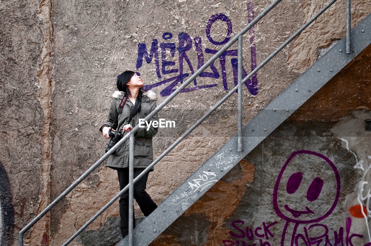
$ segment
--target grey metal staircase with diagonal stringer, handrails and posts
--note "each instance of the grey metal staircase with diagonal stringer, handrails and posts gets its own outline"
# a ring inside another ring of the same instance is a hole
[[[332,77],[335,76],[343,67],[345,67],[355,56],[361,53],[371,43],[371,15],[366,17],[350,32],[350,0],[347,0],[347,35],[332,47],[321,59],[313,64],[306,72],[295,80],[288,88],[279,94],[276,99],[270,102],[265,109],[259,112],[249,123],[242,127],[242,84],[261,69],[272,57],[283,49],[290,41],[298,36],[306,27],[309,26],[318,16],[320,16],[336,0],[331,0],[321,11],[305,23],[301,29],[295,32],[288,40],[285,41],[276,51],[267,57],[259,66],[256,67],[249,75],[242,79],[242,36],[253,25],[262,19],[273,7],[281,0],[275,0],[262,13],[251,21],[242,31],[233,37],[221,50],[219,50],[211,59],[206,62],[200,69],[190,76],[181,86],[167,97],[145,120],[151,118],[155,113],[160,111],[170,100],[181,92],[189,83],[193,81],[203,70],[210,66],[221,54],[224,53],[234,42],[238,40],[238,85],[230,90],[209,112],[199,119],[190,129],[188,129],[179,139],[177,139],[164,153],[162,153],[152,164],[144,170],[147,172],[151,167],[158,163],[167,153],[169,153],[178,143],[181,142],[189,133],[191,133],[203,120],[205,120],[214,110],[217,109],[225,100],[234,92],[239,92],[239,131],[232,137],[221,149],[210,157],[196,172],[188,177],[167,199],[162,202],[158,208],[145,218],[134,230],[129,228],[129,235],[122,239],[118,245],[149,245],[158,237],[168,226],[171,225],[185,210],[199,199],[207,190],[210,189],[218,180],[221,179],[229,170],[231,170],[243,157],[252,151],[262,140],[264,140],[273,130],[285,121],[296,109],[306,102],[313,94],[321,89]],[[96,169],[115,149],[130,138],[130,159],[132,160],[134,133],[138,126],[126,134],[109,152],[102,156],[94,163],[81,177],[72,183],[61,195],[59,195],[49,206],[46,207],[39,215],[35,217],[19,232],[19,245],[23,245],[23,234],[32,227],[41,217],[49,212],[60,200],[63,199],[73,188],[75,188],[86,176]],[[131,162],[131,161],[130,161]],[[129,163],[130,164],[130,163]],[[132,165],[131,165],[132,169]],[[122,193],[129,189],[129,197],[132,199],[132,185],[140,174],[134,180],[132,179],[123,190],[112,198],[95,216],[89,219],[73,236],[71,236],[63,245],[68,245],[79,235],[90,223],[95,220],[106,208],[108,208]],[[132,213],[132,207],[130,208]],[[132,218],[129,215],[129,218]],[[129,223],[132,223],[129,221]]]

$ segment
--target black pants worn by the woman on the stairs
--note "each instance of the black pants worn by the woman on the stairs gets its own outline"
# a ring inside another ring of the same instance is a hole
[[[134,168],[134,179],[137,177],[144,168]],[[119,168],[117,169],[118,181],[120,183],[120,190],[124,189],[129,183],[129,168]],[[134,199],[137,201],[140,209],[142,210],[144,216],[150,215],[156,208],[157,205],[154,203],[145,192],[146,183],[148,179],[148,172],[144,174],[135,184],[134,184]],[[120,196],[120,230],[122,238],[129,234],[129,190]],[[133,213],[133,222],[135,227],[135,219]]]

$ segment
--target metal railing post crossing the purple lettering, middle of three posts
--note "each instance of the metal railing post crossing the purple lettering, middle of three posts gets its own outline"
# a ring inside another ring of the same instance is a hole
[[[242,35],[238,37],[238,103],[237,103],[237,151],[242,152]]]

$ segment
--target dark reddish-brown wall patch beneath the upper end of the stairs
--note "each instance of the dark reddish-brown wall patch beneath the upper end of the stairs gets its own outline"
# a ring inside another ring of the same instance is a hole
[[[351,109],[371,110],[370,60],[371,46],[368,46],[296,110],[289,120],[337,121],[348,116]]]

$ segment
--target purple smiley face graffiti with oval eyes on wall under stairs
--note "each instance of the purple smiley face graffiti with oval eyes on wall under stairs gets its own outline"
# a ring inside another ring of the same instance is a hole
[[[273,208],[288,222],[313,223],[334,211],[339,196],[340,176],[334,163],[322,154],[299,150],[277,177]]]

